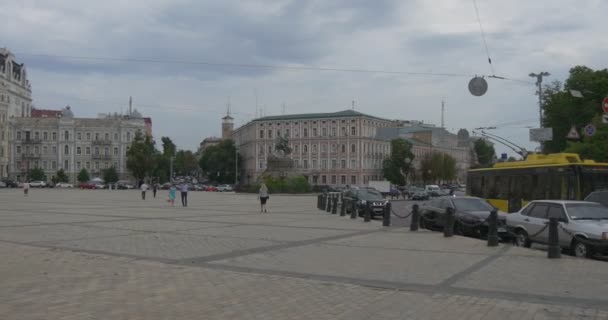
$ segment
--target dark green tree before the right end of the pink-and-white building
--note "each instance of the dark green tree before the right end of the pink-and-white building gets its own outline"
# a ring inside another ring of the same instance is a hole
[[[405,139],[393,139],[391,155],[382,162],[384,178],[392,184],[405,185],[413,160],[412,144]]]

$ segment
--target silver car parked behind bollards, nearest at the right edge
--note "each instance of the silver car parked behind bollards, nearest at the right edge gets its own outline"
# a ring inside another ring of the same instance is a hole
[[[608,208],[587,201],[537,200],[507,216],[515,243],[529,248],[547,244],[549,217],[559,220],[559,244],[576,257],[608,254]]]

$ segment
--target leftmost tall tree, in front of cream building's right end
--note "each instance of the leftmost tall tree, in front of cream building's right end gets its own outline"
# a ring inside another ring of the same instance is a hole
[[[144,136],[141,131],[138,131],[127,151],[127,169],[131,171],[135,179],[143,180],[156,168],[156,154],[152,138]]]

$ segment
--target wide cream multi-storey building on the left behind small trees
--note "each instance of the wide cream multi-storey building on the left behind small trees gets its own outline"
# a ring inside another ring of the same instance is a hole
[[[76,183],[82,169],[93,178],[114,166],[120,179],[132,180],[126,166],[127,150],[136,132],[151,132],[149,118],[135,112],[75,118],[69,106],[58,116],[45,114],[40,118],[10,119],[10,178],[24,181],[30,170],[41,168],[50,181],[63,169],[70,182]]]

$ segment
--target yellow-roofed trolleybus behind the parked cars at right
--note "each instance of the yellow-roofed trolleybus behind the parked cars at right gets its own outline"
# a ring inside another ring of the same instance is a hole
[[[518,211],[531,200],[582,200],[600,189],[608,189],[608,163],[581,160],[573,153],[532,154],[467,175],[467,194],[505,212]]]

